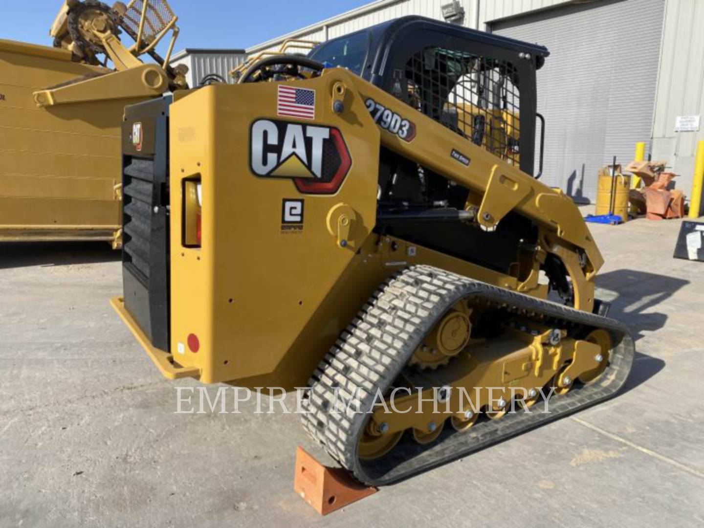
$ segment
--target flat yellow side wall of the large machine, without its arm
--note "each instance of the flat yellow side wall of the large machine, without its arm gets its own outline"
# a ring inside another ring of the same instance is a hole
[[[120,239],[122,98],[45,110],[34,92],[105,68],[0,40],[0,241]]]

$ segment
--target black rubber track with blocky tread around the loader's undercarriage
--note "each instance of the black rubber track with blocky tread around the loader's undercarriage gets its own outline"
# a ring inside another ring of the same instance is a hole
[[[453,304],[467,297],[525,308],[565,325],[574,322],[606,329],[615,343],[610,365],[596,382],[553,396],[550,413],[541,413],[544,402],[536,403],[531,413],[484,420],[465,432],[445,427],[441,436],[426,446],[403,438],[384,458],[360,461],[358,439],[369,416],[354,409],[331,413],[335,387],[345,400],[358,394],[361,408],[368,410],[377,387],[386,391],[423,337]],[[633,356],[633,340],[620,322],[417,265],[398,272],[379,287],[318,365],[309,383],[309,412],[303,414],[303,427],[360,482],[391,484],[614,396],[626,381]]]

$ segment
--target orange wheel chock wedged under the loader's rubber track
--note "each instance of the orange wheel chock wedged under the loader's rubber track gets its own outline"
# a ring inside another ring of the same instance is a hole
[[[325,467],[298,446],[294,491],[320,515],[327,515],[379,490],[360,484],[339,467]]]

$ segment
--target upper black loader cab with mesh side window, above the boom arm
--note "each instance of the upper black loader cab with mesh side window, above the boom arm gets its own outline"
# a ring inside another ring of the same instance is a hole
[[[418,16],[332,39],[310,52],[517,165],[535,170],[536,70],[543,46]]]

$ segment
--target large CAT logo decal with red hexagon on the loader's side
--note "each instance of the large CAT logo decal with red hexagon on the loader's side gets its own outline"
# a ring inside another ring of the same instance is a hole
[[[250,130],[249,167],[265,178],[290,178],[303,194],[334,194],[352,159],[339,129],[259,119]]]

